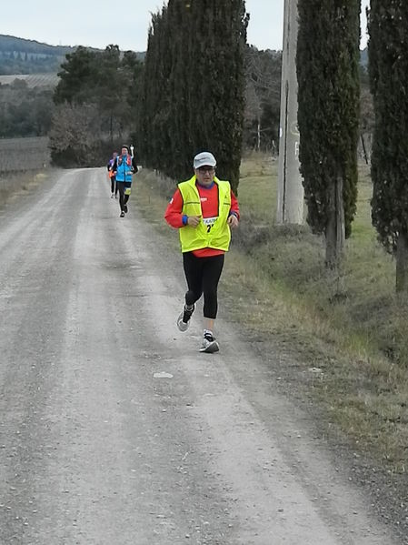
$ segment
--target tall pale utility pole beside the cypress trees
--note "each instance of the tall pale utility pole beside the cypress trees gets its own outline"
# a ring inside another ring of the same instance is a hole
[[[299,171],[297,126],[297,0],[284,0],[284,47],[282,51],[281,125],[277,223],[304,223],[304,187]]]

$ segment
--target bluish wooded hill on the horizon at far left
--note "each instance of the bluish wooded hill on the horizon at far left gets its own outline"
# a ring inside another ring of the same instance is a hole
[[[48,45],[0,35],[0,75],[56,74],[65,61],[65,55],[73,53],[75,49],[70,45]],[[100,51],[93,47],[90,49]],[[144,59],[144,53],[136,55]]]

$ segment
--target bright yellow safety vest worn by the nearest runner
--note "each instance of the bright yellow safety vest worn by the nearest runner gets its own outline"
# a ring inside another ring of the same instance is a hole
[[[218,187],[218,216],[203,217],[200,196],[195,186],[195,175],[186,182],[178,184],[183,197],[183,216],[200,216],[201,221],[197,227],[186,225],[180,227],[180,243],[182,252],[192,252],[204,247],[212,247],[228,251],[231,240],[231,230],[227,219],[231,209],[231,186],[224,180],[214,177]]]

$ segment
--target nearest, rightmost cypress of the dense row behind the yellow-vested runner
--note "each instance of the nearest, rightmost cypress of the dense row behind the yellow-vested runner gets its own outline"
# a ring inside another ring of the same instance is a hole
[[[244,50],[248,16],[242,0],[194,0],[190,133],[194,153],[209,149],[234,191],[244,125]]]

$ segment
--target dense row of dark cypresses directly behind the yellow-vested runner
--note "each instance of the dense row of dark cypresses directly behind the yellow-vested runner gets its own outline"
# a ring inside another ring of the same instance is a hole
[[[153,15],[137,135],[147,167],[183,179],[208,150],[236,191],[247,24],[244,0],[169,0]]]

